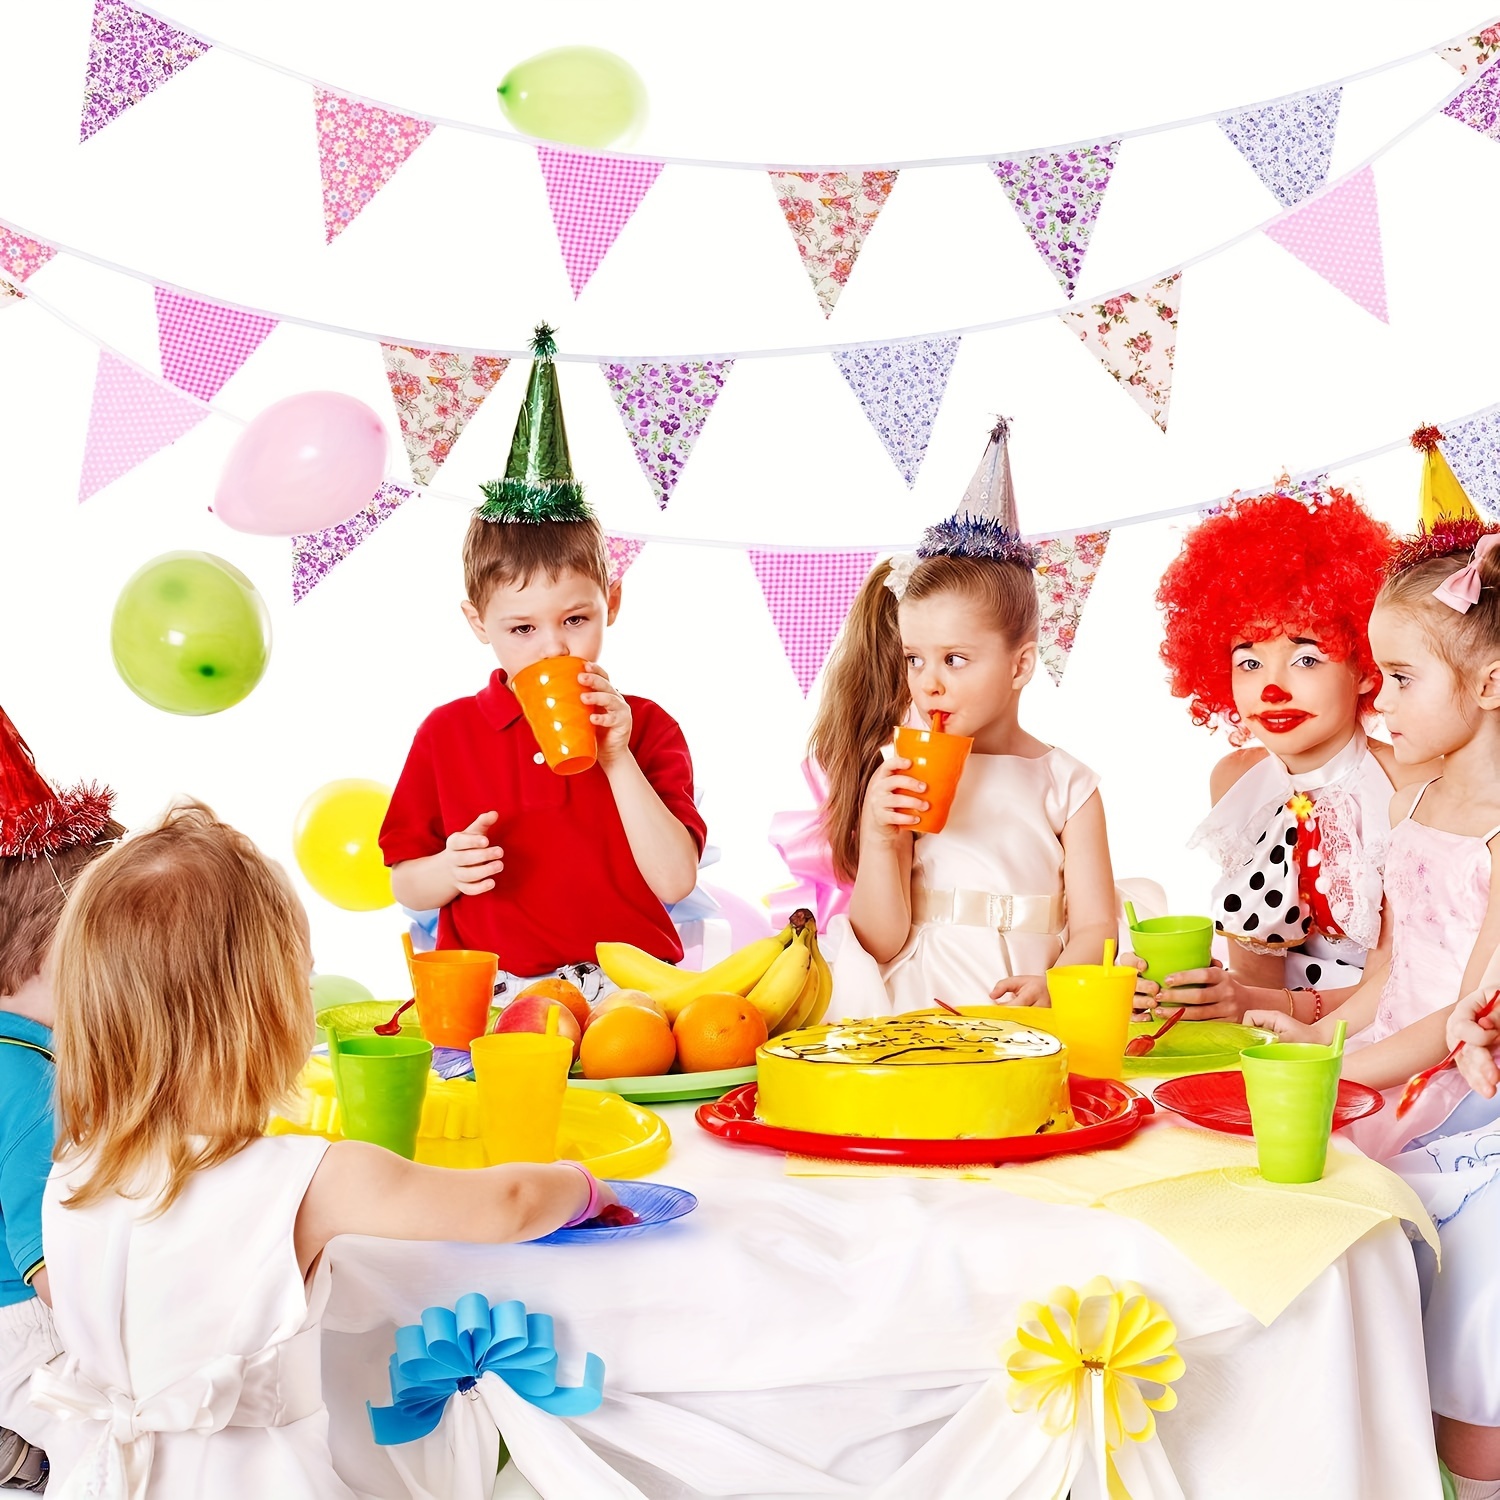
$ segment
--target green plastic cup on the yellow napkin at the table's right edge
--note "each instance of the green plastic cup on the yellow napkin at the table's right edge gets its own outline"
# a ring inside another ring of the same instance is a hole
[[[1260,1174],[1266,1182],[1317,1182],[1328,1162],[1342,1050],[1268,1041],[1239,1058]]]

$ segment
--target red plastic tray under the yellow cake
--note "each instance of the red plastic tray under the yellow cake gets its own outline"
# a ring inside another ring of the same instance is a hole
[[[832,1161],[884,1161],[908,1167],[969,1167],[980,1162],[1035,1161],[1072,1150],[1119,1144],[1152,1113],[1150,1100],[1110,1078],[1068,1078],[1076,1130],[1047,1136],[1002,1136],[998,1140],[882,1140],[874,1136],[818,1136],[784,1130],[754,1118],[756,1084],[730,1089],[714,1104],[698,1107],[698,1124],[735,1146],[771,1146],[798,1156]]]

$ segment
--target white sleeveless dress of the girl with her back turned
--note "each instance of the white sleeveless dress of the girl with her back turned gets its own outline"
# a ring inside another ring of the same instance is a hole
[[[292,1248],[327,1146],[252,1142],[156,1218],[148,1197],[63,1208],[84,1168],[52,1168],[42,1234],[68,1362],[32,1400],[80,1425],[82,1456],[51,1500],[352,1500],[322,1404],[330,1278],[309,1293]]]

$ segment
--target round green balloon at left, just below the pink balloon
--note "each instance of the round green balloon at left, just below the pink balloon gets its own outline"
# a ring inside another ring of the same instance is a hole
[[[218,714],[266,674],[266,600],[208,552],[164,552],[120,590],[110,650],[124,686],[168,714]]]

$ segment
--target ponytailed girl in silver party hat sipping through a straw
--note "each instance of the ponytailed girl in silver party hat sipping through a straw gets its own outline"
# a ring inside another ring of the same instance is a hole
[[[866,579],[830,660],[810,753],[834,867],[854,880],[831,924],[832,1016],[1046,1004],[1044,972],[1098,963],[1118,932],[1098,777],[1020,724],[1038,602],[1005,438],[1002,422],[968,508]],[[974,752],[946,826],[914,836],[926,786],[891,735],[934,712]]]

